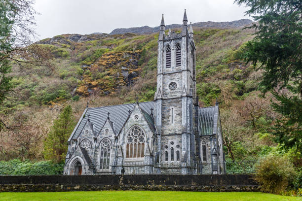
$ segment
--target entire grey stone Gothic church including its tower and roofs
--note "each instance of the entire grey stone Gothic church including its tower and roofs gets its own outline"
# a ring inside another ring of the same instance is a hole
[[[87,107],[68,140],[65,174],[225,172],[219,104],[198,106],[195,44],[185,10],[181,33],[158,36],[154,100]]]

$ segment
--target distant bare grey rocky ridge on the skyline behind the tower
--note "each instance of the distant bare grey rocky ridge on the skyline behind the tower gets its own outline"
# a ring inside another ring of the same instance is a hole
[[[249,19],[241,19],[241,20],[235,20],[231,22],[197,22],[193,23],[193,29],[194,27],[199,27],[199,28],[220,28],[220,29],[229,29],[229,28],[243,28],[245,26],[248,26],[252,24],[252,20]],[[177,29],[180,28],[182,25],[179,24],[172,24],[172,25],[167,25],[167,29]],[[159,32],[159,26],[158,27],[133,27],[133,28],[127,28],[127,29],[115,29],[111,33],[113,34],[124,34],[124,33],[136,33],[136,34],[147,34],[147,33],[156,33]]]

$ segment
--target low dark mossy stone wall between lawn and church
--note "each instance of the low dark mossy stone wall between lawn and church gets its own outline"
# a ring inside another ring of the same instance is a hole
[[[259,191],[252,174],[0,176],[0,192],[100,190]]]

